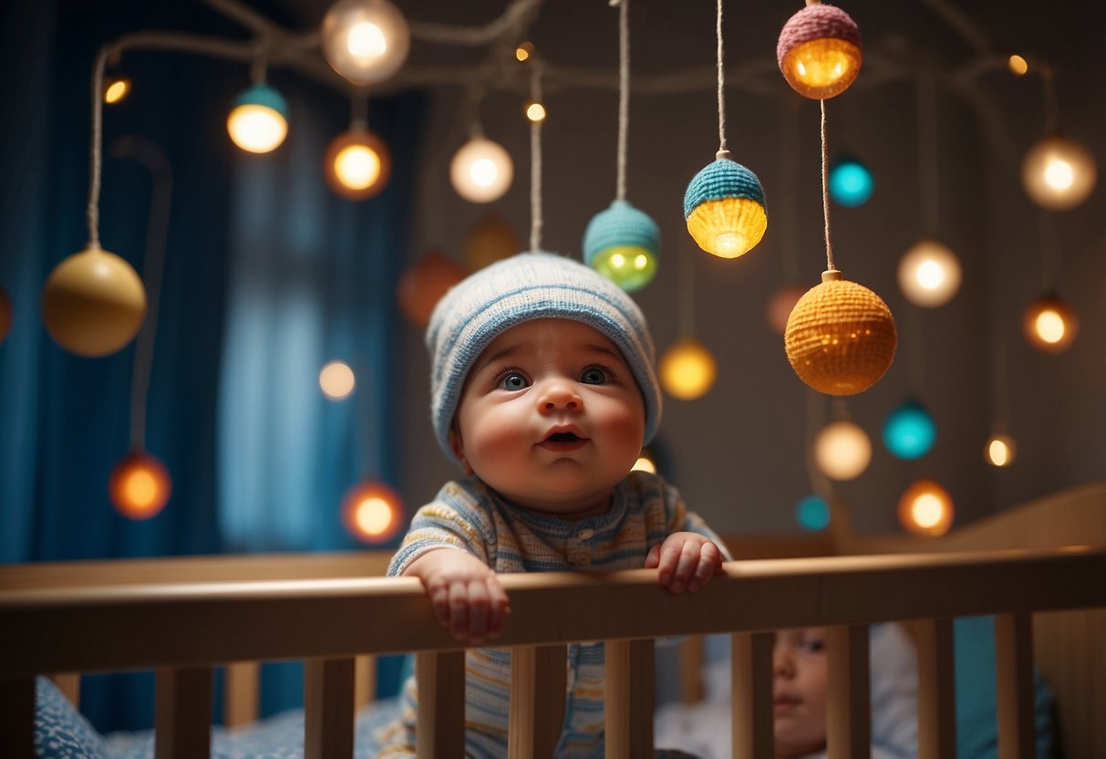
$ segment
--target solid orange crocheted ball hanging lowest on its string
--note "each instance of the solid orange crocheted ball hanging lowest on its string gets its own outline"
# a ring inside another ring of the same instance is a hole
[[[795,303],[783,342],[800,380],[826,395],[855,395],[890,366],[895,319],[879,295],[832,269]]]

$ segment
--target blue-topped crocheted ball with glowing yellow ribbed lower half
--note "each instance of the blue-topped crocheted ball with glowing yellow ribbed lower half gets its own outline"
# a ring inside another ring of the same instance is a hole
[[[691,237],[708,253],[743,256],[768,229],[764,189],[755,174],[720,157],[692,177],[684,195],[684,218]]]

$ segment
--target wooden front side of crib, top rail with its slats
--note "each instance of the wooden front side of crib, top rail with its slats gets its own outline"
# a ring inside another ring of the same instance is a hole
[[[207,746],[212,666],[306,659],[307,756],[348,757],[354,656],[401,652],[419,654],[420,751],[462,756],[463,651],[432,621],[417,580],[20,583],[7,569],[0,571],[3,756],[31,756],[39,674],[158,669],[167,705],[165,714],[158,708],[158,756],[196,757]],[[834,627],[830,756],[866,755],[866,708],[853,708],[867,704],[866,625],[901,620],[921,621],[921,756],[948,756],[950,620],[977,614],[997,615],[1003,756],[1031,756],[1031,616],[1106,606],[1104,580],[1106,551],[1087,547],[739,561],[695,595],[660,590],[651,570],[504,575],[512,613],[497,645],[520,652],[512,756],[549,756],[559,720],[543,683],[559,669],[563,677],[564,646],[576,641],[608,642],[607,756],[644,756],[651,744],[653,686],[641,674],[651,673],[649,638],[711,633],[733,634],[733,724],[741,727],[734,756],[770,756],[765,631],[813,625]]]

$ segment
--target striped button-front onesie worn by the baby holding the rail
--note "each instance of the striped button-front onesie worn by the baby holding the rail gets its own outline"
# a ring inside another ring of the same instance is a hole
[[[426,551],[449,547],[468,551],[497,573],[613,571],[640,569],[649,549],[674,532],[718,536],[687,510],[675,488],[656,475],[634,471],[615,486],[611,509],[578,521],[535,516],[515,508],[476,476],[452,480],[411,520],[388,575],[403,574]],[[567,692],[557,757],[603,756],[603,644],[572,644]],[[511,654],[505,648],[470,649],[466,655],[466,756],[507,756]],[[400,721],[378,736],[382,759],[415,753],[414,678],[403,693]]]

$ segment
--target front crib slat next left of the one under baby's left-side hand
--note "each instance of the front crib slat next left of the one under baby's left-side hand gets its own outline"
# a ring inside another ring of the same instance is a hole
[[[353,756],[354,670],[352,656],[304,662],[304,759],[347,759]]]

